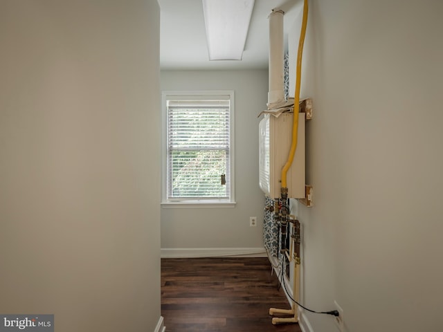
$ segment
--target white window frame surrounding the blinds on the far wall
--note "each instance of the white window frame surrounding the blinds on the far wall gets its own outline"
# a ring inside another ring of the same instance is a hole
[[[230,192],[228,199],[168,199],[168,100],[205,100],[227,98],[229,105],[230,135]],[[165,208],[232,208],[235,206],[235,94],[232,90],[217,91],[162,91],[162,167],[161,167],[161,205]]]

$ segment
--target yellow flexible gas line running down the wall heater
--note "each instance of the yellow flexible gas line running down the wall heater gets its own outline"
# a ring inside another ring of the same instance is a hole
[[[291,143],[291,149],[289,149],[288,160],[282,168],[282,188],[287,188],[287,172],[289,167],[291,167],[292,165],[293,156],[296,154],[296,148],[297,148],[298,104],[300,102],[300,80],[301,80],[301,71],[302,71],[303,44],[305,43],[306,26],[307,26],[307,11],[308,11],[308,5],[307,5],[307,0],[305,0],[303,6],[302,30],[300,31],[300,40],[298,41],[296,91],[294,93],[294,101],[293,101],[292,143]]]

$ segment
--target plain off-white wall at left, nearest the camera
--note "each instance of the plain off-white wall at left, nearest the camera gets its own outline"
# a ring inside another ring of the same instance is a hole
[[[0,2],[0,313],[160,319],[156,1]]]

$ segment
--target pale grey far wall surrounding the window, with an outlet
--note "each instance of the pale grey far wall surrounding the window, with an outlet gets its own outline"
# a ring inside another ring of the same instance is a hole
[[[258,113],[266,109],[268,78],[257,71],[162,71],[163,91],[235,91],[235,208],[161,209],[161,248],[260,248],[264,195],[258,187]],[[249,216],[258,225],[249,227]],[[198,250],[197,250],[198,251]],[[216,250],[217,251],[217,250]],[[237,250],[234,250],[237,251]],[[246,250],[247,251],[247,250]],[[206,251],[208,252],[208,251]]]

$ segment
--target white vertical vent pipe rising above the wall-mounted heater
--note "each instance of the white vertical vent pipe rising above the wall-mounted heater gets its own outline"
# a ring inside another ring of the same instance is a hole
[[[284,102],[284,43],[282,10],[269,15],[269,92],[268,109]]]

